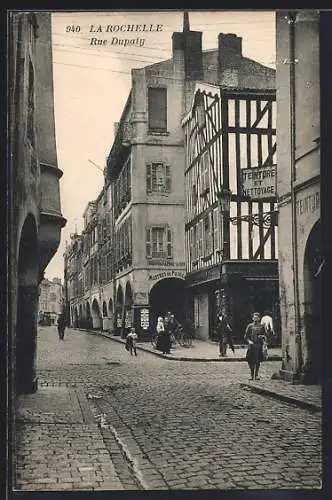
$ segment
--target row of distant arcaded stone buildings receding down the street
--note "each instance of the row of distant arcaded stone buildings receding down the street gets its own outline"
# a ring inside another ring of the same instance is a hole
[[[69,321],[76,328],[113,330],[111,188],[104,187],[83,213],[83,231],[64,253]]]

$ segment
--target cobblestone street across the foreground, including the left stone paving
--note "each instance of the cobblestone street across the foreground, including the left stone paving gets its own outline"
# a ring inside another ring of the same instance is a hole
[[[261,381],[279,367],[263,363]],[[61,342],[48,327],[39,331],[38,374],[41,392],[67,387],[74,401],[76,391],[83,414],[86,405],[95,421],[83,418],[74,426],[81,449],[68,450],[63,443],[73,438],[70,414],[57,436],[52,422],[31,423],[21,414],[19,489],[38,489],[31,475],[41,469],[46,481],[39,489],[321,487],[320,413],[242,388],[246,363],[179,362],[143,351],[131,357],[122,344],[85,332],[69,329]],[[59,418],[60,410],[54,410]],[[57,439],[62,448],[53,462],[64,458],[73,465],[60,480],[41,449],[47,439],[49,454]],[[86,450],[99,466],[93,481]]]

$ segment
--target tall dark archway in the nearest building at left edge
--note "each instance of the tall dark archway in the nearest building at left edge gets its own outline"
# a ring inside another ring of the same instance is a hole
[[[23,224],[18,250],[17,322],[15,332],[15,390],[37,390],[36,344],[39,297],[38,232],[35,217]]]

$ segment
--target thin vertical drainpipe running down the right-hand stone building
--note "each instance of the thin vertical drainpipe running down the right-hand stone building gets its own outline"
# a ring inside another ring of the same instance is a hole
[[[297,13],[292,11],[288,13],[289,18],[289,98],[290,98],[290,164],[291,164],[291,205],[292,205],[292,264],[293,264],[293,291],[294,291],[294,312],[295,312],[295,342],[296,358],[299,366],[296,373],[299,374],[303,365],[302,339],[301,339],[301,321],[300,321],[300,299],[298,282],[298,259],[297,259],[297,215],[296,215],[296,197],[294,185],[296,181],[296,123],[295,123],[295,22]]]

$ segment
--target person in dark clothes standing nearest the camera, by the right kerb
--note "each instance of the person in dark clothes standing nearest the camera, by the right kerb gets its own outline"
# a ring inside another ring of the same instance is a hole
[[[260,322],[260,314],[255,312],[252,315],[252,322],[248,324],[244,335],[248,350],[246,360],[250,369],[250,380],[259,380],[258,372],[263,361],[263,341],[265,338],[265,328]]]

